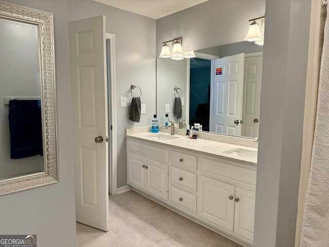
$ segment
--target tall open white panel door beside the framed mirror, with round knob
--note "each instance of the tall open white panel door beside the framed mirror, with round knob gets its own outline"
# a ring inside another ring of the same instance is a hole
[[[70,22],[69,46],[76,220],[107,231],[105,16]]]

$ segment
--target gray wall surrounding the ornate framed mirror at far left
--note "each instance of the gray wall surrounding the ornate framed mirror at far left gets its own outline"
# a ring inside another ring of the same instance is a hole
[[[66,0],[7,0],[54,13],[59,179],[0,197],[0,233],[36,234],[38,246],[75,246],[74,169]]]

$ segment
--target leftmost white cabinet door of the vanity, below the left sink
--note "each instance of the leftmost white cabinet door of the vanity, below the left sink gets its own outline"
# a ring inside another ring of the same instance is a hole
[[[145,158],[131,153],[128,154],[127,177],[129,185],[146,189],[145,167]]]

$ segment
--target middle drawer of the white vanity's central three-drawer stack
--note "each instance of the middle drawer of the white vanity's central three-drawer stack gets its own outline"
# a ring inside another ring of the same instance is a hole
[[[176,167],[170,168],[170,181],[176,186],[196,192],[196,173],[185,171]]]

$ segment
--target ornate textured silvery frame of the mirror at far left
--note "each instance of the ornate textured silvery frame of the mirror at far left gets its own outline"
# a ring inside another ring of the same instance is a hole
[[[38,27],[44,172],[0,181],[0,196],[58,183],[53,14],[0,1],[0,19]]]

